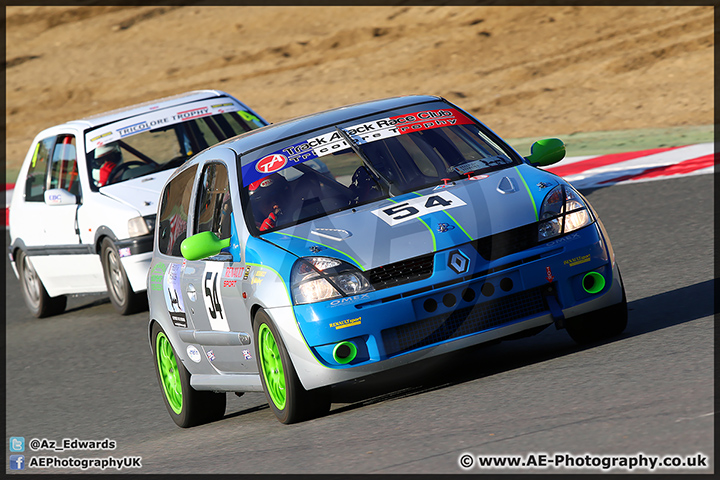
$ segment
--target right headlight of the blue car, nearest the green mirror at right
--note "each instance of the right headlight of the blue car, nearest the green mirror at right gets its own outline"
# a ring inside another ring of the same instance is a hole
[[[538,241],[570,233],[593,222],[587,205],[572,188],[558,185],[540,207]]]

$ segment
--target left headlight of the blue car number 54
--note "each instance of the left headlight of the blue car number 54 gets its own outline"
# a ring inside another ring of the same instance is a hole
[[[295,305],[375,290],[360,270],[328,257],[304,257],[293,266],[290,288]]]

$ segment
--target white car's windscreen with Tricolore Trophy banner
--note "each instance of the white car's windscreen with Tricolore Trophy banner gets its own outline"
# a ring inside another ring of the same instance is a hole
[[[229,98],[135,116],[85,135],[93,189],[176,168],[218,142],[265,125]]]

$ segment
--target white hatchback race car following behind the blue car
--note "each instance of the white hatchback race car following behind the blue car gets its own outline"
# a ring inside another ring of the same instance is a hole
[[[142,309],[157,202],[176,167],[267,125],[225,92],[202,90],[71,121],[32,143],[10,204],[9,257],[36,317],[68,294],[107,291]]]

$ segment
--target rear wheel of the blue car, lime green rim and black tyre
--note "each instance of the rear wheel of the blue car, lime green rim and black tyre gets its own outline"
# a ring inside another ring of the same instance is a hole
[[[175,355],[160,324],[154,322],[151,332],[155,374],[173,422],[188,428],[220,420],[225,415],[226,394],[192,388],[190,373]]]

